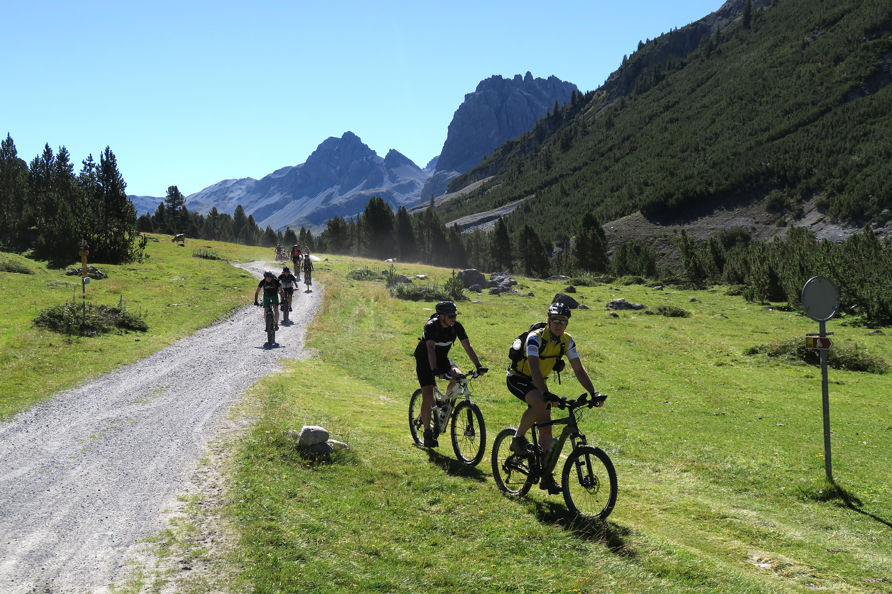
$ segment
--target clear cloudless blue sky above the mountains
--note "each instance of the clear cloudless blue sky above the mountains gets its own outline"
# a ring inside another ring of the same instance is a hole
[[[594,89],[640,39],[721,4],[2,0],[0,134],[26,160],[110,145],[140,195],[260,178],[346,130],[424,167],[483,78]]]

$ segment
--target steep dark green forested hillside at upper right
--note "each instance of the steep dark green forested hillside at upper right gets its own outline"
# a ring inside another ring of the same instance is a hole
[[[771,194],[793,222],[815,193],[829,216],[879,217],[892,203],[892,4],[747,1],[693,52],[653,60],[701,25],[624,60],[619,74],[640,70],[628,95],[574,94],[459,176],[450,191],[496,174],[444,202],[442,219],[535,195],[506,217],[509,231],[560,241],[584,213],[659,216],[744,192]]]

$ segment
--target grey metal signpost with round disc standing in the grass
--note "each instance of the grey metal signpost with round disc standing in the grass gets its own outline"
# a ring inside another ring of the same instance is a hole
[[[821,352],[821,392],[824,413],[824,473],[833,482],[833,466],[830,463],[830,394],[827,386],[827,353],[833,346],[828,337],[827,321],[839,310],[839,291],[826,276],[814,276],[802,288],[802,306],[812,320],[817,321],[818,333],[805,337],[805,348]],[[833,334],[830,332],[829,334]]]

